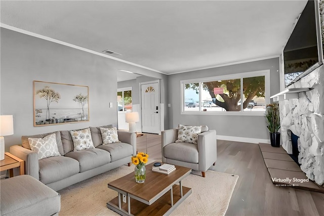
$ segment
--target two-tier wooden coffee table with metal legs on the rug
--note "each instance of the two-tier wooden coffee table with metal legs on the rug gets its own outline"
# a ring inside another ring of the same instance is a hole
[[[145,166],[143,184],[136,183],[134,172],[108,183],[108,188],[117,191],[118,196],[107,202],[107,207],[121,215],[169,215],[191,194],[191,188],[181,184],[190,168],[176,166],[174,172],[165,175],[153,172],[152,165]]]

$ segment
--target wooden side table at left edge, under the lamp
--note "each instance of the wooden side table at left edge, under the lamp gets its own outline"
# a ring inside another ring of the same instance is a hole
[[[20,167],[20,175],[25,174],[24,161],[15,155],[5,152],[5,159],[0,161],[1,169],[0,171],[5,171],[9,169],[9,177],[14,176],[13,168]]]

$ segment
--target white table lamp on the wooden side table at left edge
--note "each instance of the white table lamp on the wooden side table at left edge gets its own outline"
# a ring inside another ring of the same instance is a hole
[[[0,160],[5,159],[5,138],[3,136],[14,134],[14,121],[12,115],[0,115]]]

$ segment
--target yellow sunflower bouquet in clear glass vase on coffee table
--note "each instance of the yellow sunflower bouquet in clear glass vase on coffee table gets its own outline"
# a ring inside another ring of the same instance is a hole
[[[132,156],[132,163],[135,165],[135,180],[137,183],[144,183],[146,177],[145,164],[148,161],[148,154],[139,152]]]

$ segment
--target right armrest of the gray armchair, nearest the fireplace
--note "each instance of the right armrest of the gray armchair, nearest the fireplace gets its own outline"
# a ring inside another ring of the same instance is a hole
[[[216,131],[210,130],[198,135],[198,167],[206,171],[217,159]]]

